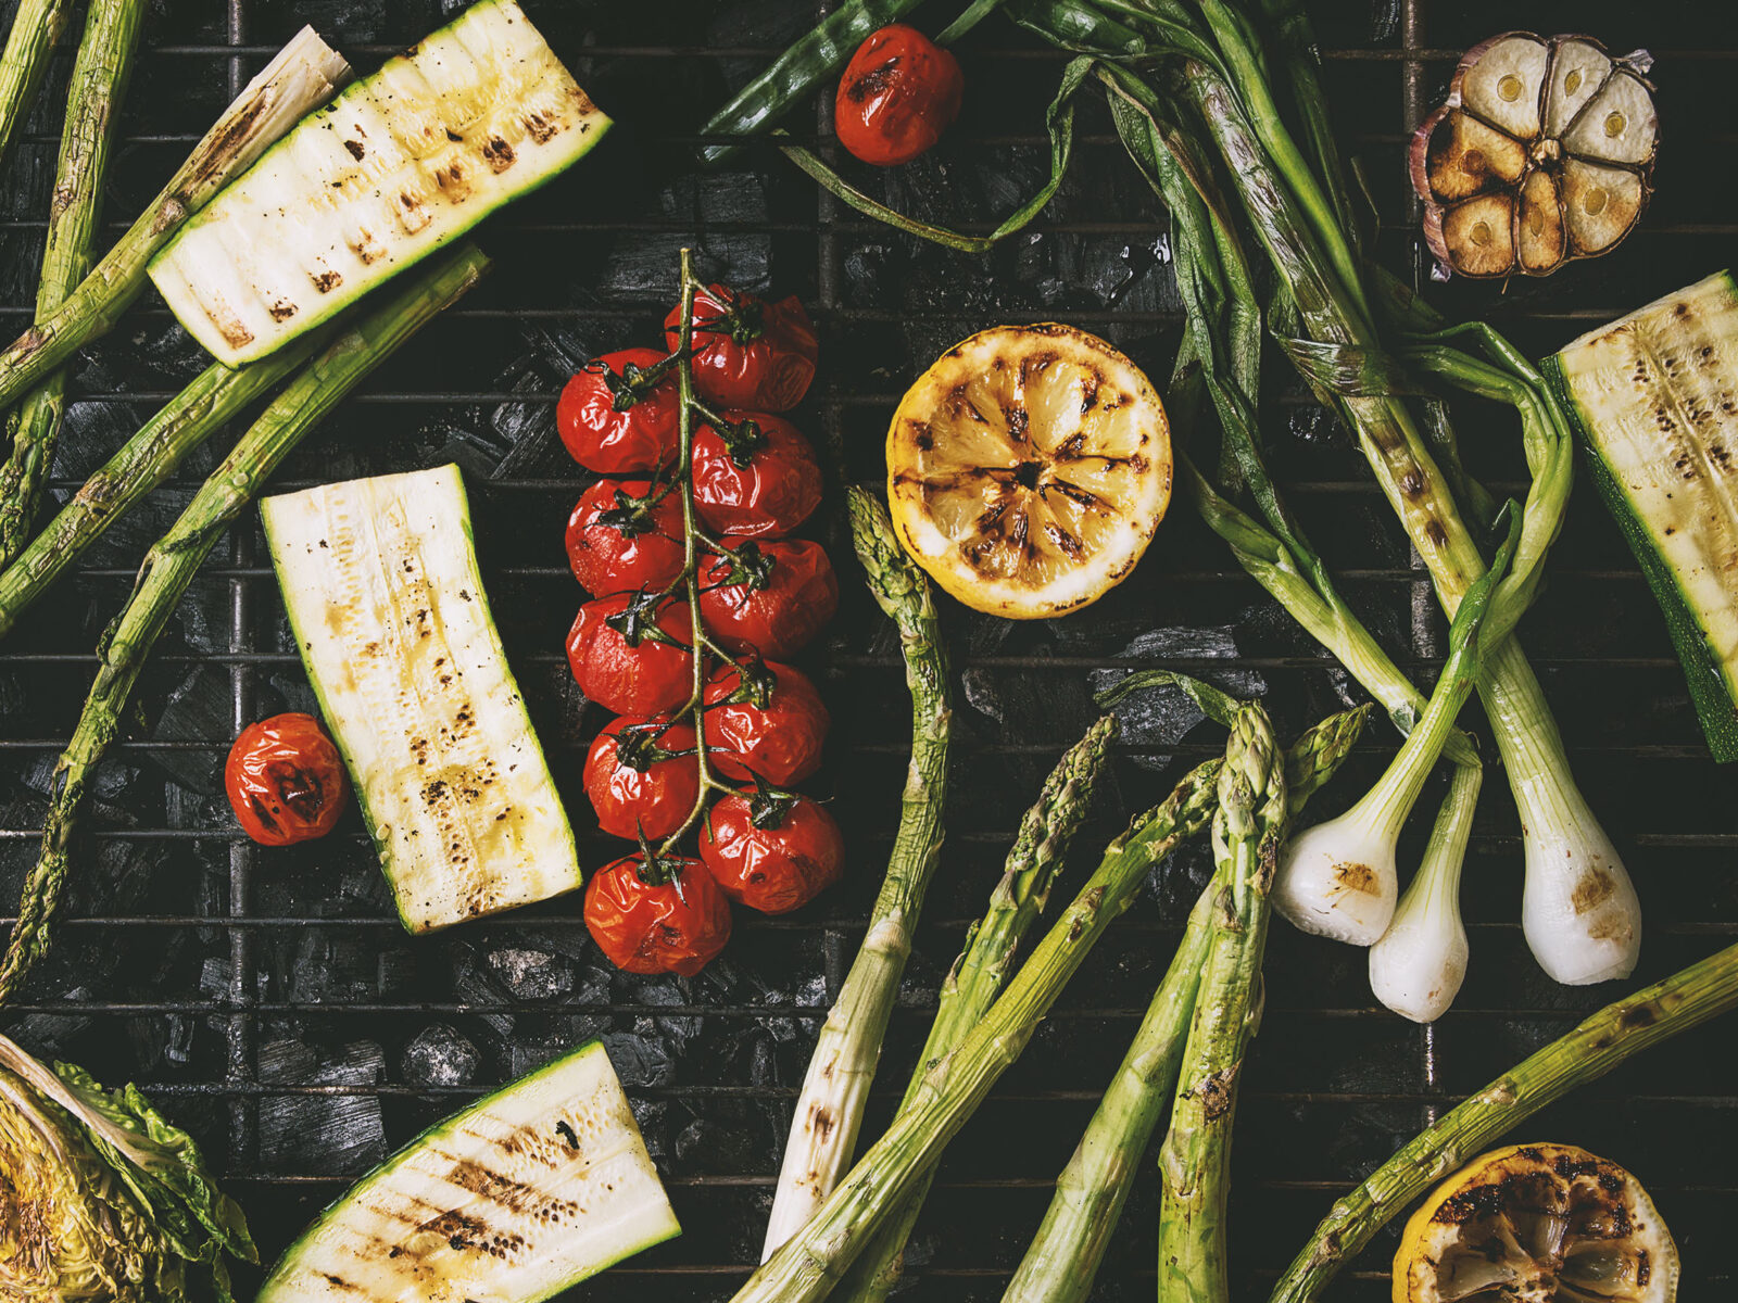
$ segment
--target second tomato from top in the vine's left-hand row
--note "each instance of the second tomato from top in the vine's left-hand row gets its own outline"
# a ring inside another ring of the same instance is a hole
[[[662,589],[681,573],[681,493],[650,502],[650,480],[600,480],[567,518],[567,561],[594,598]]]

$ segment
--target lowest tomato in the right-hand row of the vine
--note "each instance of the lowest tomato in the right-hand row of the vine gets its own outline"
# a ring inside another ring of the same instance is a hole
[[[806,796],[744,790],[706,811],[700,858],[739,905],[787,914],[839,881],[845,837]]]

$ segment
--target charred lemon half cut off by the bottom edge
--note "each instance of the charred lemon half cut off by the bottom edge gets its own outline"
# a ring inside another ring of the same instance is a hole
[[[1394,1303],[1672,1303],[1677,1246],[1634,1176],[1514,1145],[1439,1185],[1394,1256]]]

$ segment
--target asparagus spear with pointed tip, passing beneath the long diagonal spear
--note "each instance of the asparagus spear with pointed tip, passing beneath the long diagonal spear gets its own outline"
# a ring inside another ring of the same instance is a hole
[[[965,1039],[965,1034],[977,1025],[1001,992],[1001,985],[1013,968],[1020,940],[1045,912],[1050,888],[1062,870],[1069,843],[1086,817],[1093,785],[1104,768],[1114,735],[1114,716],[1102,716],[1095,721],[1086,735],[1062,756],[1045,782],[1038,803],[1020,820],[1020,830],[1008,851],[1001,881],[991,893],[989,909],[982,919],[972,924],[965,950],[942,983],[935,1022],[930,1025],[930,1037],[923,1044],[918,1067],[911,1074],[900,1112],[916,1105],[930,1067],[945,1058]],[[852,1263],[852,1270],[833,1293],[834,1303],[885,1300],[899,1284],[905,1240],[911,1239],[911,1228],[923,1209],[932,1176],[933,1173],[919,1181],[918,1188],[905,1199],[904,1207],[888,1220],[874,1242]]]

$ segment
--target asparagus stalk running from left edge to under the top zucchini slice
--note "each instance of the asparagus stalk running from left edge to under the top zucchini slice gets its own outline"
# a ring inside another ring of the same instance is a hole
[[[238,370],[214,361],[92,474],[17,559],[0,572],[0,638],[134,502],[250,401],[323,347],[335,325],[299,335]]]

